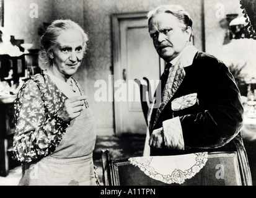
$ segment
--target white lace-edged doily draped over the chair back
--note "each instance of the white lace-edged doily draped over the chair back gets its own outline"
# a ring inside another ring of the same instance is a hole
[[[198,173],[208,160],[207,152],[174,156],[133,157],[128,159],[132,165],[152,179],[163,183],[182,184]]]

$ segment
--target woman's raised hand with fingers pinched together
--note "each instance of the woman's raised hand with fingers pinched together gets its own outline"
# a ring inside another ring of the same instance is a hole
[[[80,95],[66,99],[57,114],[68,123],[71,119],[74,119],[81,114],[84,100],[87,98],[86,95]]]

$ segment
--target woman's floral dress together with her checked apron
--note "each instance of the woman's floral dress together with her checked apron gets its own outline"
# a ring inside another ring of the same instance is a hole
[[[45,72],[20,88],[14,101],[14,155],[22,163],[19,185],[95,185],[94,115],[85,101],[80,116],[65,123],[56,112],[66,98]]]

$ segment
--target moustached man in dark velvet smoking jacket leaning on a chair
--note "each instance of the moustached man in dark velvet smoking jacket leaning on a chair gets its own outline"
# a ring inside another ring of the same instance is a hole
[[[251,184],[241,137],[244,109],[229,69],[190,45],[192,19],[180,6],[148,14],[149,34],[166,61],[161,101],[148,112],[150,155],[237,151],[243,184]]]

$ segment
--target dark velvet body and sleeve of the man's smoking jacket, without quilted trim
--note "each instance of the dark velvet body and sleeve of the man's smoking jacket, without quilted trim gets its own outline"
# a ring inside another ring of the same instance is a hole
[[[162,127],[166,119],[179,116],[185,150],[151,148],[151,155],[238,151],[241,171],[248,172],[244,170],[248,162],[240,134],[244,109],[234,77],[223,62],[203,52],[197,52],[192,65],[184,69],[186,75],[182,84],[149,133]],[[197,94],[195,104],[183,110],[172,110],[175,98],[191,93]],[[250,173],[245,174],[250,178]]]

